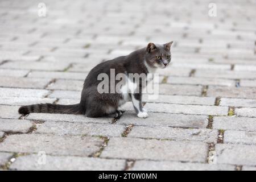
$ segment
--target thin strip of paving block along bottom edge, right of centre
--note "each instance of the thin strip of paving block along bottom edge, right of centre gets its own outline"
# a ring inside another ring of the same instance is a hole
[[[234,166],[225,164],[180,163],[169,161],[137,160],[133,171],[234,171]]]

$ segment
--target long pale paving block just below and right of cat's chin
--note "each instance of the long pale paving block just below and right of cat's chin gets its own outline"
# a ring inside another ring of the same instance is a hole
[[[220,78],[168,77],[168,84],[235,86],[234,80]]]

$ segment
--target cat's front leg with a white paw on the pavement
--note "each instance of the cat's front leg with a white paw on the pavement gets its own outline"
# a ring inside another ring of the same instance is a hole
[[[147,111],[145,111],[142,106],[142,94],[141,93],[131,94],[131,101],[133,101],[133,106],[137,113],[137,116],[139,118],[147,118],[148,117]]]

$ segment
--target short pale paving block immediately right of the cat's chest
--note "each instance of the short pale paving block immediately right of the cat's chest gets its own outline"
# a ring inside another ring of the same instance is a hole
[[[201,96],[202,86],[159,84],[159,93],[180,96]]]

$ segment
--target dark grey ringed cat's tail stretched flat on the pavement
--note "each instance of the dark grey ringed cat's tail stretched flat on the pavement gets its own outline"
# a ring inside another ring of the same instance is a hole
[[[60,113],[60,114],[82,114],[81,105],[60,105],[60,104],[34,104],[19,107],[20,114],[29,113]]]

